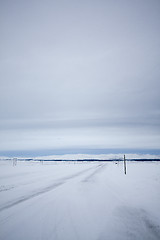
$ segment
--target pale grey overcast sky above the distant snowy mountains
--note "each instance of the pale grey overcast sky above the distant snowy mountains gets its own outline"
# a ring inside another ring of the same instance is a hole
[[[159,0],[0,0],[0,151],[160,149]]]

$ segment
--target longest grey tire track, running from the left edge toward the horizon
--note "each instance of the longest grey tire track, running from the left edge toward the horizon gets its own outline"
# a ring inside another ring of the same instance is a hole
[[[43,189],[38,190],[37,192],[31,193],[31,194],[29,194],[29,195],[27,195],[27,196],[23,196],[23,197],[19,198],[19,199],[16,200],[16,201],[9,202],[9,203],[6,204],[5,206],[1,206],[1,207],[0,207],[0,212],[4,211],[4,210],[6,210],[6,209],[9,209],[9,208],[11,208],[11,207],[14,207],[14,206],[16,206],[16,205],[18,205],[18,204],[20,204],[20,203],[23,203],[23,202],[25,202],[25,201],[27,201],[27,200],[32,199],[32,198],[38,197],[38,196],[40,196],[40,195],[42,195],[42,194],[45,194],[45,193],[47,193],[47,192],[50,192],[50,191],[56,189],[57,187],[65,184],[66,181],[68,181],[68,180],[70,180],[70,179],[73,179],[73,178],[76,178],[76,177],[78,177],[78,176],[80,176],[80,175],[82,175],[82,174],[84,174],[84,173],[86,173],[86,172],[88,172],[88,171],[91,171],[91,170],[94,169],[94,168],[97,168],[97,165],[96,165],[96,167],[94,166],[94,167],[91,167],[91,168],[89,168],[89,169],[86,169],[86,170],[80,171],[80,172],[78,172],[78,173],[69,175],[69,176],[67,176],[67,177],[61,178],[61,179],[57,180],[56,182],[54,182],[53,184],[51,184],[51,185],[49,185],[49,186],[47,186],[47,187],[45,187],[45,188],[43,188]]]

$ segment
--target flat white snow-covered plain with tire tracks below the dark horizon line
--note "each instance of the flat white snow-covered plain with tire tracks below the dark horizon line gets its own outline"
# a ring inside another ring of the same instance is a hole
[[[160,162],[0,161],[1,240],[158,240]]]

